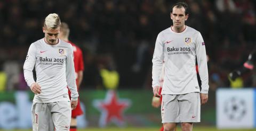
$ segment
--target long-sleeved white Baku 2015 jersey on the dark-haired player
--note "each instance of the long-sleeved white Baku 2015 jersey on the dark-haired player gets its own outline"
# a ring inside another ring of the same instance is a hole
[[[200,32],[186,26],[181,33],[167,28],[156,39],[153,56],[152,86],[159,86],[163,60],[165,75],[162,94],[200,92],[196,75],[196,59],[202,80],[201,93],[208,93],[208,69],[205,43]]]

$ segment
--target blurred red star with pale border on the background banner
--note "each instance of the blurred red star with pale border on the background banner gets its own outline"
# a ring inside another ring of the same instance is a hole
[[[99,126],[105,127],[110,122],[124,126],[123,112],[130,103],[129,99],[119,99],[115,91],[108,91],[104,100],[94,100],[94,107],[101,111]]]

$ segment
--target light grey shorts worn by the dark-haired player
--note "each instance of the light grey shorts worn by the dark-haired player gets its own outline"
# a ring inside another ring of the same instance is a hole
[[[163,94],[161,116],[162,123],[199,123],[200,122],[200,94]]]

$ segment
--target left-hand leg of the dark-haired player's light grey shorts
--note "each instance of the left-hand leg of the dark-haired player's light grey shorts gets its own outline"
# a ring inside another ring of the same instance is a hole
[[[163,94],[162,97],[162,123],[179,123],[179,102],[177,95]]]

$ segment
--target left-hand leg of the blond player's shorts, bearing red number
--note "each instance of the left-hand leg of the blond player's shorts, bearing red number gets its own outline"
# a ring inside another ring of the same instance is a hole
[[[33,131],[52,131],[54,129],[52,114],[47,103],[33,102],[31,108]]]

